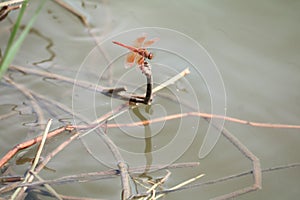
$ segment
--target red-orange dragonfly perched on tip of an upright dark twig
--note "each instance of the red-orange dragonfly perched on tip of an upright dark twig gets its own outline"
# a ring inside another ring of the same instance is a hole
[[[151,60],[153,58],[153,54],[149,51],[147,51],[145,48],[152,45],[156,41],[159,40],[159,38],[153,38],[151,40],[146,40],[146,36],[138,37],[134,41],[133,46],[128,46],[126,44],[123,44],[121,42],[113,41],[113,43],[120,45],[122,47],[125,47],[129,49],[131,52],[128,54],[126,58],[125,66],[132,67],[135,63],[137,63],[139,66],[143,65],[145,59]]]

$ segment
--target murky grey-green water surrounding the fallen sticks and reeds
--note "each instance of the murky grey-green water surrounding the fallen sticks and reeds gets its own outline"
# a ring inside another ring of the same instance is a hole
[[[34,4],[35,1],[30,5],[31,10]],[[92,24],[90,33],[77,17],[48,2],[13,64],[102,86],[126,85],[129,91],[143,93],[144,87],[137,85],[143,86],[145,78],[139,70],[123,67],[126,51],[111,44],[110,40],[115,38],[130,43],[147,30],[150,38],[160,37],[153,47],[155,85],[186,67],[191,69],[191,74],[186,78],[158,92],[151,107],[140,106],[126,112],[117,117],[114,123],[128,123],[130,119],[153,119],[195,109],[210,113],[213,109],[211,97],[215,95],[213,97],[217,100],[225,97],[220,93],[218,96],[211,89],[214,87],[207,78],[210,75],[207,66],[211,63],[203,49],[196,48],[192,40],[179,33],[171,34],[166,29],[161,31],[153,28],[151,31],[147,28],[123,33],[134,28],[162,27],[186,34],[208,51],[224,82],[226,106],[222,108],[226,108],[228,116],[257,122],[300,124],[299,2],[72,1],[72,5],[88,17]],[[17,13],[10,15],[12,21],[16,17]],[[9,20],[0,24],[2,53],[11,26]],[[95,49],[95,39],[106,54]],[[180,55],[174,52],[180,52]],[[112,60],[114,62],[110,64]],[[213,75],[212,78],[218,77]],[[95,120],[123,103],[95,91],[73,87],[73,84],[61,80],[15,71],[8,71],[7,76],[89,120]],[[28,97],[5,81],[2,81],[0,91],[0,115],[12,112],[11,117],[0,121],[0,155],[3,156],[15,144],[41,131]],[[165,96],[188,102],[192,108]],[[80,123],[80,120],[73,119],[72,113],[64,112],[41,99],[38,102],[44,110],[42,124],[48,118],[54,119],[53,128],[66,123]],[[299,162],[299,130],[255,128],[230,122],[226,122],[225,126],[260,159],[262,168]],[[171,161],[201,163],[196,168],[172,170],[168,187],[200,173],[206,174],[200,180],[205,182],[251,169],[250,161],[222,136],[211,153],[200,160],[199,149],[207,128],[205,120],[188,117],[145,127],[113,128],[108,130],[108,135],[120,148],[130,167],[168,164]],[[55,148],[61,139],[65,138],[61,136],[51,140],[46,152]],[[98,161],[88,154],[78,140],[47,165],[56,172],[45,170],[41,176],[54,179],[116,168],[115,159],[100,137],[91,133],[83,141]],[[22,154],[30,157],[34,151]],[[13,170],[23,174],[27,165],[14,165]],[[165,171],[161,171],[150,175],[157,177],[164,174]],[[296,199],[300,194],[297,187],[299,180],[299,168],[264,173],[263,189],[238,199]],[[166,199],[209,199],[251,184],[252,177],[247,176],[170,193]],[[65,195],[119,199],[121,187],[119,178],[114,178],[54,188]]]

